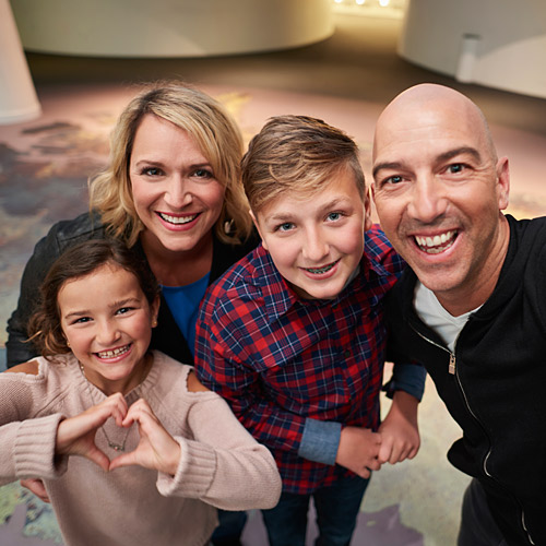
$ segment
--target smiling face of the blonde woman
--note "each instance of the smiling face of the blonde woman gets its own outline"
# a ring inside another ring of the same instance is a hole
[[[146,114],[134,136],[129,177],[149,246],[187,252],[211,237],[225,190],[188,132]]]

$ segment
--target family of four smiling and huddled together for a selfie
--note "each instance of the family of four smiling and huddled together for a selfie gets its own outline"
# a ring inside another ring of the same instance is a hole
[[[0,484],[51,502],[67,546],[235,546],[250,509],[304,546],[311,498],[316,544],[349,545],[371,474],[417,454],[428,372],[472,477],[458,545],[546,544],[546,218],[502,213],[508,159],[450,87],[387,106],[372,174],[320,119],[245,151],[194,87],[134,97],[90,212],[25,268]]]

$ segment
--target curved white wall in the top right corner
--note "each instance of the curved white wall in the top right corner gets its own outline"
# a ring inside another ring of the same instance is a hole
[[[408,0],[399,54],[463,82],[546,98],[546,2]]]

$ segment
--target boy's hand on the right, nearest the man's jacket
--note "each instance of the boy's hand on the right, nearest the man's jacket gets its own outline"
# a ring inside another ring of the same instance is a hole
[[[394,393],[391,408],[379,427],[382,439],[379,450],[381,464],[387,462],[394,464],[405,459],[413,459],[419,451],[417,407],[417,399],[407,392],[396,391]]]

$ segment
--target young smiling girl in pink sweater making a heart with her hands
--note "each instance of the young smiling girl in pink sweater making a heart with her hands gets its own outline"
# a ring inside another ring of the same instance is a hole
[[[213,507],[275,506],[270,452],[191,367],[149,352],[158,289],[134,252],[73,247],[43,301],[44,356],[0,373],[0,483],[43,478],[68,546],[203,546]]]

